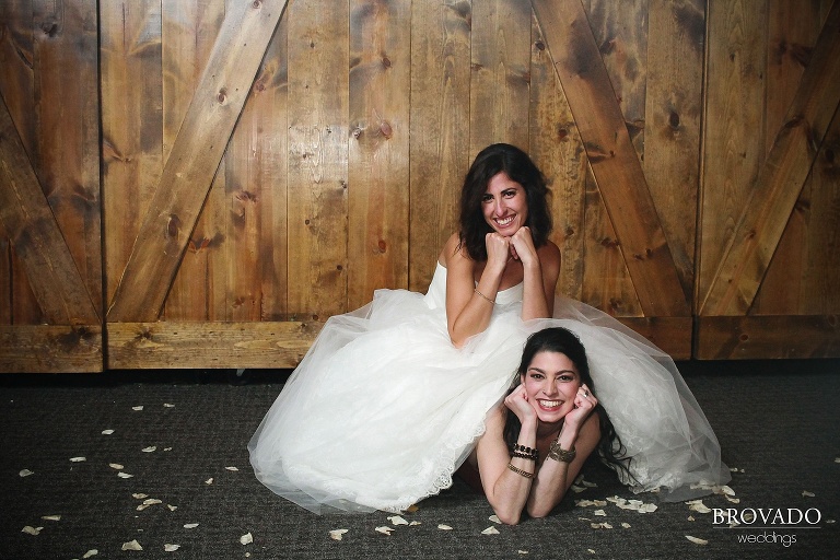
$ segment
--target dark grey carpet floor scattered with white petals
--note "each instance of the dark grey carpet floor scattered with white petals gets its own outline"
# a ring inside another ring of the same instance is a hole
[[[386,513],[316,516],[269,492],[248,465],[246,444],[279,393],[282,372],[246,372],[245,380],[231,372],[3,375],[0,558],[71,559],[91,550],[97,560],[837,558],[840,361],[679,365],[724,460],[738,469],[731,487],[739,503],[711,495],[704,505],[810,509],[812,520],[820,515],[814,528],[720,528],[713,514],[685,503],[658,504],[652,513],[611,502],[578,508],[575,500],[614,495],[655,502],[631,494],[597,464],[584,470],[596,487],[516,527],[490,521],[485,499],[459,481],[405,514],[410,525],[395,526]],[[33,474],[21,476],[24,469]],[[161,503],[138,510],[149,499]],[[383,526],[394,530],[376,530]],[[488,527],[499,533],[482,534]],[[348,532],[334,540],[329,532],[339,528]],[[243,545],[247,534],[253,542]],[[121,549],[133,540],[142,550]]]

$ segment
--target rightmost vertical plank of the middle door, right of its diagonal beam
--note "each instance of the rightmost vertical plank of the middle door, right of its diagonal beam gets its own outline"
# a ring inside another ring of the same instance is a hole
[[[644,175],[689,301],[695,289],[704,0],[651,0]]]

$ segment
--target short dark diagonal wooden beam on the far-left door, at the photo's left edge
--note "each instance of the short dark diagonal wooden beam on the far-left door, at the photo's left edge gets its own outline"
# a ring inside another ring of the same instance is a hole
[[[102,323],[2,98],[0,224],[51,325]]]

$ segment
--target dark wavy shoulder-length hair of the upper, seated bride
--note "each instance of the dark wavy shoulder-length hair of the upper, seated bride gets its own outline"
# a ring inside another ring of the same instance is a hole
[[[481,150],[464,179],[460,189],[460,245],[467,249],[472,260],[487,260],[485,237],[492,230],[485,221],[481,211],[481,198],[487,192],[487,185],[498,173],[504,172],[525,189],[528,203],[528,219],[534,246],[541,247],[551,233],[551,214],[548,210],[550,195],[542,173],[528,158],[528,154],[515,145],[497,143]]]

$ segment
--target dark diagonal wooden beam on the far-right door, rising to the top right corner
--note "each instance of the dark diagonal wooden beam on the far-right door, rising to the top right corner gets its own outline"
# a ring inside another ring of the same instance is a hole
[[[745,315],[840,107],[840,1],[835,1],[784,124],[756,176],[700,315]]]

